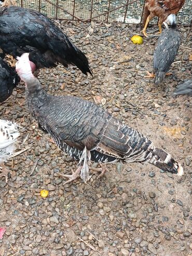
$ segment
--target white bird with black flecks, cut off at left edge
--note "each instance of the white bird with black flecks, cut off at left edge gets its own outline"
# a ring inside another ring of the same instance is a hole
[[[3,162],[7,160],[15,151],[14,143],[19,137],[18,125],[10,121],[0,119],[0,178],[7,175],[9,170],[5,167]]]

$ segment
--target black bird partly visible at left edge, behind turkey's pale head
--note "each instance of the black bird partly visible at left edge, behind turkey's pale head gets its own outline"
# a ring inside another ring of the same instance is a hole
[[[12,90],[19,84],[20,78],[15,69],[0,58],[0,102],[9,98]]]

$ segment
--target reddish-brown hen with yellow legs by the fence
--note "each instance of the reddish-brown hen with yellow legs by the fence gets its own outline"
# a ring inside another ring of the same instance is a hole
[[[149,21],[155,16],[159,17],[158,26],[161,34],[161,25],[170,14],[177,14],[185,0],[146,0],[143,14],[143,34],[147,37],[146,29]]]

